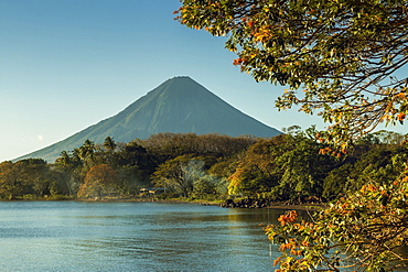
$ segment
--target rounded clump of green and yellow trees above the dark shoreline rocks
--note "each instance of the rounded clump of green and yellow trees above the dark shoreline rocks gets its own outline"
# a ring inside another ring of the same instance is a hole
[[[288,130],[291,134],[259,141],[248,149],[228,178],[229,194],[270,192],[273,200],[298,203],[308,197],[321,198],[325,176],[340,163],[319,154],[323,144],[292,129]]]

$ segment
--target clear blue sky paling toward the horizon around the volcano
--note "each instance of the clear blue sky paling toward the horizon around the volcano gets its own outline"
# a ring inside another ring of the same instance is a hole
[[[184,75],[277,129],[324,127],[318,117],[273,108],[283,88],[240,74],[223,37],[173,20],[179,7],[0,0],[0,162],[61,141]]]

